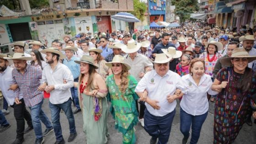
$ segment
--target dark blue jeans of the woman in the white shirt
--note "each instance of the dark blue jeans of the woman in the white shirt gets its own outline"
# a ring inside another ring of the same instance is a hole
[[[192,135],[190,144],[197,144],[197,141],[200,137],[201,128],[203,123],[208,115],[208,112],[205,112],[202,115],[193,116],[188,114],[187,112],[183,111],[181,108],[181,126],[180,130],[181,133],[184,135],[185,138],[189,137],[189,131],[192,124]]]

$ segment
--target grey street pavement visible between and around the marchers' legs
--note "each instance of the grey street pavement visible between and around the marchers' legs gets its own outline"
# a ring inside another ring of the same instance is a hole
[[[51,119],[50,109],[48,107],[48,99],[45,99],[43,102],[43,111],[46,115]],[[209,112],[206,121],[203,124],[203,128],[201,131],[201,135],[198,141],[198,144],[213,144],[213,117],[214,117],[214,103],[209,103]],[[3,107],[3,100],[0,100],[0,109]],[[72,106],[75,110],[75,107]],[[13,108],[8,108],[10,114],[6,115],[6,119],[11,124],[11,127],[7,129],[5,132],[0,133],[0,144],[11,144],[16,138],[16,121],[13,114]],[[27,108],[28,109],[28,108]],[[64,113],[60,114],[60,121],[62,127],[62,134],[66,144],[86,144],[86,136],[83,133],[83,117],[82,113],[79,112],[75,114],[75,126],[76,131],[78,133],[76,139],[68,143],[69,137],[69,123],[66,119]],[[108,116],[108,130],[110,133],[110,137],[108,139],[108,144],[122,144],[122,134],[118,133],[117,130],[114,128],[114,120],[112,115],[109,113]],[[25,128],[27,128],[27,123]],[[42,123],[42,129],[45,130],[45,125]],[[136,129],[136,144],[149,144],[150,136],[148,133],[145,132],[144,128],[140,125],[140,123],[135,126]],[[174,117],[172,127],[171,127],[171,134],[169,138],[168,144],[181,144],[183,135],[180,132],[180,107],[179,104],[176,107],[176,116]],[[34,131],[26,133],[24,135],[25,141],[23,144],[34,144],[35,142],[35,134]],[[189,138],[190,139],[190,138]],[[54,132],[48,134],[44,137],[44,144],[54,144],[55,142],[55,135]],[[247,124],[244,124],[243,128],[241,129],[237,139],[235,140],[234,144],[256,144],[256,124],[253,123],[253,126],[250,127]]]

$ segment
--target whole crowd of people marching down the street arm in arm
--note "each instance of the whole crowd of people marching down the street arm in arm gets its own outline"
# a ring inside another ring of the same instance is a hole
[[[256,118],[255,38],[256,29],[246,27],[188,25],[132,35],[64,35],[63,43],[56,39],[47,48],[40,41],[12,43],[12,56],[0,53],[0,132],[11,126],[4,116],[9,105],[16,120],[12,144],[21,144],[31,130],[35,144],[52,131],[54,144],[64,144],[60,112],[69,122],[68,142],[78,133],[74,114],[81,113],[87,144],[107,144],[110,112],[123,144],[136,143],[137,123],[150,144],[167,144],[180,102],[181,142],[187,144],[191,135],[190,144],[197,144],[211,101],[213,144],[232,144],[243,124]],[[42,109],[48,94],[51,121]]]

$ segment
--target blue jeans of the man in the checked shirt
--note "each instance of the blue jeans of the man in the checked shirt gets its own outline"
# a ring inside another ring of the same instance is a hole
[[[43,137],[41,122],[46,126],[47,129],[53,128],[52,123],[49,118],[45,115],[42,110],[43,100],[33,107],[29,107],[31,110],[32,124],[36,139],[41,139]]]

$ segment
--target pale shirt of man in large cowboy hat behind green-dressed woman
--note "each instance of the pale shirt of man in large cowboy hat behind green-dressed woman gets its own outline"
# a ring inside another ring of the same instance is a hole
[[[141,78],[139,78],[139,73],[145,72],[145,67],[150,67],[153,69],[153,64],[149,61],[148,57],[137,53],[135,58],[132,60],[129,54],[124,56],[124,62],[131,66],[129,73],[135,77],[135,79],[139,82]]]

